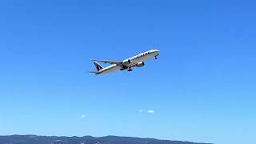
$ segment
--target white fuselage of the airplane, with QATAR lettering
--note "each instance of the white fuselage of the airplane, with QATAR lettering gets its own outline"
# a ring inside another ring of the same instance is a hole
[[[138,54],[138,55],[135,55],[134,57],[125,59],[122,62],[122,64],[113,64],[113,65],[107,66],[106,68],[99,70],[96,74],[108,74],[116,70],[122,70],[124,66],[134,67],[139,62],[144,62],[149,58],[157,57],[159,52],[160,52],[159,50],[148,50],[142,54]]]

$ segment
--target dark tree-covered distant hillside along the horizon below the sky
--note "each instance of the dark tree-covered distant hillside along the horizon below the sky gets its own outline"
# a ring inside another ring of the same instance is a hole
[[[130,138],[130,137],[117,137],[117,136],[94,138],[91,136],[55,137],[55,136],[37,136],[37,135],[10,135],[10,136],[0,136],[0,144],[199,144],[199,143],[167,141],[167,140],[158,140],[153,138]]]

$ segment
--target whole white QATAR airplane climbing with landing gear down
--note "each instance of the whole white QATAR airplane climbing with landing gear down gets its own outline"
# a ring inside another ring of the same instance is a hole
[[[105,61],[105,60],[97,60],[97,59],[90,59],[90,61],[94,62],[94,66],[96,67],[97,71],[91,71],[90,73],[93,74],[109,74],[116,70],[128,70],[132,71],[132,67],[142,67],[145,66],[144,61],[149,58],[157,59],[160,50],[148,50],[142,54],[135,55],[134,57],[127,58],[123,61]],[[109,63],[110,66],[103,67],[98,62]]]

